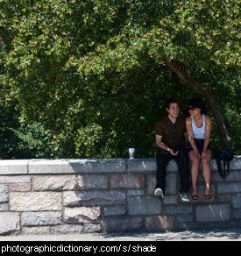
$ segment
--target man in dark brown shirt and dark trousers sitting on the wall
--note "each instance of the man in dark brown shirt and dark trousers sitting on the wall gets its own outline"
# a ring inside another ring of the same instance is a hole
[[[181,181],[179,195],[183,202],[189,202],[189,162],[185,144],[185,122],[179,117],[179,103],[168,99],[166,103],[168,115],[159,119],[155,125],[157,152],[157,185],[155,196],[165,196],[167,165],[175,160]]]

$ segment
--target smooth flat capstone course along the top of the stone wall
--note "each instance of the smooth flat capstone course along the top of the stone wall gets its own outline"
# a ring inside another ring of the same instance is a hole
[[[211,169],[216,170],[216,160],[211,160]],[[230,170],[241,169],[241,156],[230,162]],[[0,160],[0,175],[4,174],[89,174],[89,173],[135,173],[155,172],[156,160],[148,159],[32,159]],[[177,171],[171,160],[167,172]]]

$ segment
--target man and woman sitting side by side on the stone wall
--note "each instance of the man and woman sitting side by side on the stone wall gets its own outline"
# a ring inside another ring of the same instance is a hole
[[[156,189],[155,196],[164,198],[166,190],[167,165],[175,160],[181,181],[179,195],[181,201],[189,202],[189,160],[191,161],[192,199],[197,200],[196,183],[198,166],[202,162],[202,174],[205,181],[205,198],[210,199],[210,167],[211,151],[209,138],[211,120],[205,114],[201,99],[195,98],[188,103],[189,117],[186,120],[179,117],[179,103],[168,99],[166,103],[167,116],[159,119],[155,125],[155,140],[158,146],[156,155]],[[188,133],[188,147],[185,147],[185,133]]]

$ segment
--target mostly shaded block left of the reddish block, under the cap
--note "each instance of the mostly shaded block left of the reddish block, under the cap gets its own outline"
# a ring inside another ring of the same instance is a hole
[[[78,189],[107,189],[108,175],[84,174],[77,176]]]

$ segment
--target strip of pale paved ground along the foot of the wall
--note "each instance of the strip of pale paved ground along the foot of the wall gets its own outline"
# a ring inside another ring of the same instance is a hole
[[[241,241],[241,229],[167,233],[6,236],[0,237],[0,241]]]

